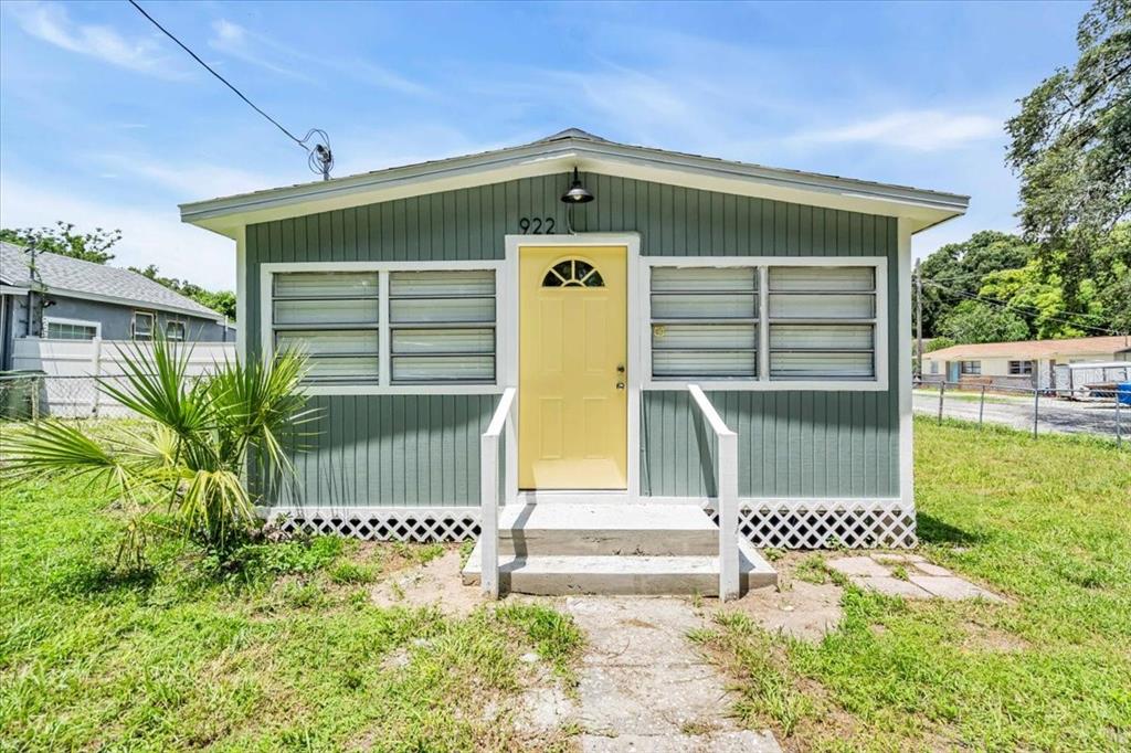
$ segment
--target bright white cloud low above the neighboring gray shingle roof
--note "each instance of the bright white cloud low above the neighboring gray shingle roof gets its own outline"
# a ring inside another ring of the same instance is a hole
[[[63,219],[83,231],[120,228],[114,246],[119,267],[157,265],[171,277],[209,288],[235,289],[235,242],[180,220],[176,207],[89,199],[88,192],[41,188],[40,181],[0,174],[0,225],[40,227]]]

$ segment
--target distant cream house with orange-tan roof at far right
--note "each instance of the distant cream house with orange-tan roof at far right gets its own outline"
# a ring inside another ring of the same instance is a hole
[[[924,381],[1047,389],[1056,366],[1131,361],[1131,336],[952,345],[923,354]]]

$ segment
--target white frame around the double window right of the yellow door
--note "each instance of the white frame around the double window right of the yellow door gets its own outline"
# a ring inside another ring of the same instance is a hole
[[[637,311],[648,327],[641,338],[640,361],[636,371],[642,373],[641,389],[649,391],[685,391],[698,384],[708,392],[886,392],[888,391],[888,258],[887,257],[641,257],[642,268],[651,267],[754,267],[758,287],[758,379],[654,379],[651,376],[651,297],[648,275],[641,274]],[[874,379],[770,379],[769,367],[769,268],[770,267],[872,267],[875,269],[875,378]],[[910,347],[910,346],[908,346]]]

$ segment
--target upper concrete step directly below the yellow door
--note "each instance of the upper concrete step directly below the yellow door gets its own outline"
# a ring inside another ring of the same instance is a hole
[[[500,555],[718,554],[718,527],[693,504],[517,504],[499,512]]]

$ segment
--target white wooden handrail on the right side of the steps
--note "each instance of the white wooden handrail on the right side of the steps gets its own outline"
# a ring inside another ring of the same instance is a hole
[[[727,429],[715,406],[698,384],[688,391],[718,440],[715,483],[718,490],[718,598],[741,596],[739,577],[739,435]]]

